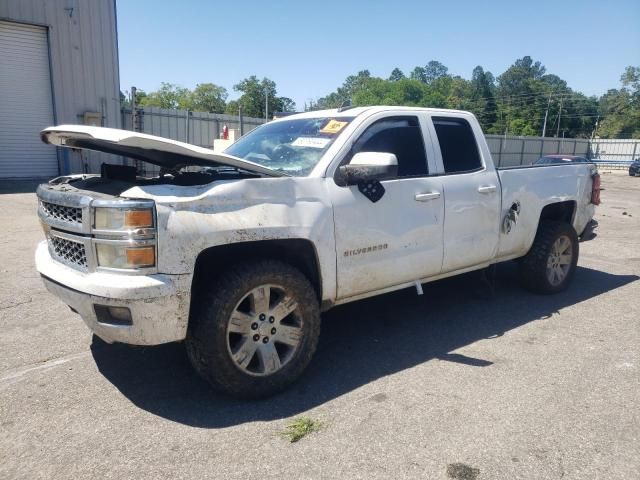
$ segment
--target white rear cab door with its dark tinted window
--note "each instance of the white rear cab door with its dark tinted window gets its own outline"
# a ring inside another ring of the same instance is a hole
[[[498,249],[500,183],[493,163],[476,142],[482,135],[462,117],[432,116],[443,186],[444,258],[442,272],[492,260]]]

